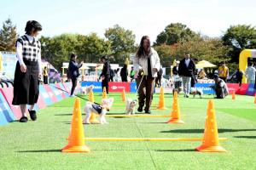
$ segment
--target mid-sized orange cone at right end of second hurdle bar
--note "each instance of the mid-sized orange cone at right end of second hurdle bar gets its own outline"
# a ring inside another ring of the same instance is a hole
[[[180,119],[179,105],[177,101],[177,92],[174,93],[174,97],[173,97],[171,119],[167,123],[179,123],[179,124],[184,123]]]

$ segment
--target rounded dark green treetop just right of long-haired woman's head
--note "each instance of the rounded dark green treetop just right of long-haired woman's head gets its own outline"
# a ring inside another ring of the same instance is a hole
[[[193,37],[199,37],[199,35],[196,34],[195,31],[191,31],[186,25],[181,23],[171,23],[156,37],[154,45],[172,45],[177,42],[188,42]]]

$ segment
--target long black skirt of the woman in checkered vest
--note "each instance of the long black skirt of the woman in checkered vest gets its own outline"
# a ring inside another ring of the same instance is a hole
[[[38,62],[24,60],[26,72],[20,71],[19,61],[15,69],[13,105],[34,105],[38,102]]]

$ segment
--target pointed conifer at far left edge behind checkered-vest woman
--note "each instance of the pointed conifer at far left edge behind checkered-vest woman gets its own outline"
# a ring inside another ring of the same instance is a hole
[[[12,20],[3,22],[3,29],[0,30],[0,51],[15,51],[15,42],[18,34]]]

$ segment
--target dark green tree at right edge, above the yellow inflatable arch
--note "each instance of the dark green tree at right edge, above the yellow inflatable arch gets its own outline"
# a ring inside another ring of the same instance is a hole
[[[239,54],[245,48],[256,48],[256,29],[253,26],[237,25],[230,26],[222,37],[224,45],[231,48],[230,57],[232,62],[238,63]]]

